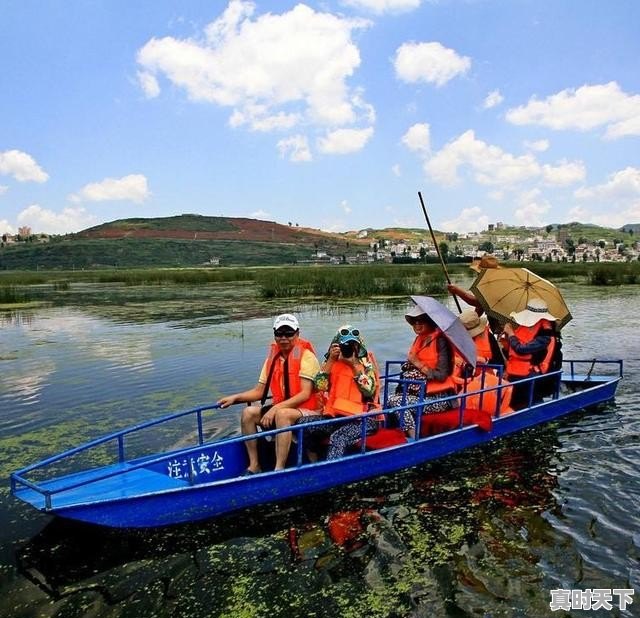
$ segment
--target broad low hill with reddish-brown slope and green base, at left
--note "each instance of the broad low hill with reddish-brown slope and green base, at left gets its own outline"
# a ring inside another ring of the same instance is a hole
[[[271,221],[180,215],[122,219],[49,242],[0,248],[0,269],[79,269],[292,264],[318,249],[355,253],[367,241]]]

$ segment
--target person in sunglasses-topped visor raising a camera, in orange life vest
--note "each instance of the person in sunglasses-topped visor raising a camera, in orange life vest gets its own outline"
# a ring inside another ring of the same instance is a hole
[[[323,394],[323,418],[358,416],[380,409],[380,374],[375,356],[367,349],[360,330],[345,324],[331,340],[320,372],[315,377],[317,390]],[[317,420],[311,417],[297,423]],[[364,420],[367,435],[375,433],[378,421],[370,416]],[[305,443],[314,459],[314,442],[329,435],[327,459],[344,456],[349,447],[362,438],[362,420],[325,425],[317,431],[305,431]],[[307,440],[308,439],[308,440]]]

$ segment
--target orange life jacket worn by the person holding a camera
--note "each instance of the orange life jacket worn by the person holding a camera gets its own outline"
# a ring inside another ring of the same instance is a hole
[[[324,414],[327,416],[351,416],[380,409],[380,374],[378,363],[373,353],[367,355],[374,367],[375,392],[372,400],[365,400],[362,391],[353,379],[351,366],[342,360],[337,360],[331,365],[329,383],[331,387],[324,404]]]

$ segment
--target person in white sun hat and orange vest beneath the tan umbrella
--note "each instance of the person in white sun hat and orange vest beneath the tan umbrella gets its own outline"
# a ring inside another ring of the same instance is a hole
[[[507,335],[507,372],[509,382],[519,382],[525,378],[547,373],[551,359],[559,346],[556,332],[556,318],[549,313],[547,303],[541,298],[532,297],[524,310],[512,312],[516,323],[514,328],[506,324]],[[529,405],[531,382],[514,386],[511,407],[520,410]],[[532,403],[540,403],[544,391],[542,384],[533,383]]]

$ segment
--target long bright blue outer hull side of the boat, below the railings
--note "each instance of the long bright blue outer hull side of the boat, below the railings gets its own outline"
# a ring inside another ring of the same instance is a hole
[[[278,502],[289,498],[325,491],[338,485],[353,483],[372,477],[411,468],[434,459],[450,455],[467,448],[486,444],[503,436],[534,427],[572,412],[611,401],[620,378],[593,381],[592,386],[545,401],[525,410],[513,412],[493,419],[490,431],[476,425],[447,431],[446,433],[409,441],[381,450],[350,455],[334,461],[294,466],[278,472],[264,472],[250,476],[238,476],[245,460],[244,445],[232,445],[226,454],[234,468],[231,478],[223,480],[167,484],[150,484],[144,491],[133,495],[131,479],[139,471],[157,472],[138,468],[128,473],[123,464],[122,474],[117,467],[113,472],[113,483],[121,483],[122,490],[97,492],[91,483],[84,485],[82,492],[72,500],[63,499],[63,493],[46,504],[42,493],[30,487],[16,484],[16,497],[32,504],[43,512],[109,527],[139,528],[157,527],[227,514],[256,505]],[[576,381],[578,384],[578,381]],[[203,445],[203,449],[206,445]],[[100,469],[103,474],[104,469]],[[129,477],[129,481],[127,481]],[[150,478],[157,478],[151,475]],[[102,481],[105,482],[104,480]],[[148,481],[141,481],[144,486]],[[55,489],[55,486],[51,486]],[[93,492],[93,493],[92,493]],[[83,494],[85,498],[83,499]],[[100,496],[105,496],[100,498]]]

